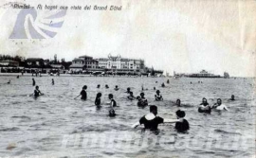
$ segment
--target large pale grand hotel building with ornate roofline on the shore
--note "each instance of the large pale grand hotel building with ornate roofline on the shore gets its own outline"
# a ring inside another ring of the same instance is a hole
[[[121,58],[120,56],[109,55],[108,58],[100,58],[97,61],[99,61],[99,67],[107,69],[140,70],[145,68],[143,60]]]

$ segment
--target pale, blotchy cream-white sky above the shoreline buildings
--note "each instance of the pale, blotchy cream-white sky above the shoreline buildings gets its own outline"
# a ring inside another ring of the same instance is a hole
[[[65,61],[82,55],[94,58],[120,55],[144,59],[173,75],[202,69],[230,76],[255,77],[256,1],[42,1],[42,5],[92,6],[68,9],[64,25],[49,39],[9,39],[20,9],[0,2],[0,54]],[[39,2],[20,1],[37,6]],[[93,6],[122,6],[120,11]],[[59,11],[56,10],[56,11]],[[54,12],[54,11],[53,11]],[[34,25],[48,10],[39,10]],[[53,19],[54,21],[54,19]]]

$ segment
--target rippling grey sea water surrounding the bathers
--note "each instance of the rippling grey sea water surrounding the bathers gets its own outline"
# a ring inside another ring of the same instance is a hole
[[[7,82],[11,79],[11,83]],[[51,79],[55,85],[51,85]],[[253,79],[170,79],[120,77],[38,77],[36,84],[45,95],[33,93],[32,77],[0,77],[0,157],[253,157],[255,154],[255,96]],[[202,83],[198,83],[202,81]],[[161,83],[165,87],[161,87]],[[191,83],[192,82],[192,83]],[[97,89],[97,85],[101,88]],[[109,89],[105,89],[105,84]],[[77,97],[87,85],[88,100]],[[119,91],[115,91],[115,86]],[[125,93],[131,87],[135,97],[144,88],[158,115],[175,118],[186,112],[190,131],[179,133],[174,125],[158,126],[157,132],[131,126],[149,107],[138,108]],[[154,101],[155,90],[163,101]],[[102,93],[101,108],[94,100]],[[109,117],[108,94],[119,107]],[[235,101],[229,101],[231,95]],[[210,105],[222,98],[229,112],[199,114],[206,97]],[[181,100],[181,107],[175,100]]]

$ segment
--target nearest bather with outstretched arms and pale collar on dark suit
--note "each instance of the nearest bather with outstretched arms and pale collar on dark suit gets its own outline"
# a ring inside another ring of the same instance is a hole
[[[164,119],[157,115],[157,107],[155,105],[150,106],[150,114],[142,116],[139,121],[132,127],[137,128],[138,125],[144,125],[145,129],[155,131],[159,124],[162,123],[176,123],[181,122],[182,119]]]

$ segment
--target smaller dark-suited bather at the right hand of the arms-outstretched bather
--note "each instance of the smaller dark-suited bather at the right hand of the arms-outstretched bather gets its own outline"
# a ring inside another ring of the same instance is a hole
[[[188,130],[190,130],[190,124],[189,124],[189,122],[184,118],[185,115],[186,115],[186,114],[185,114],[184,111],[180,111],[180,110],[176,111],[177,119],[181,119],[181,121],[175,123],[174,129],[175,129],[177,132],[187,132]]]

